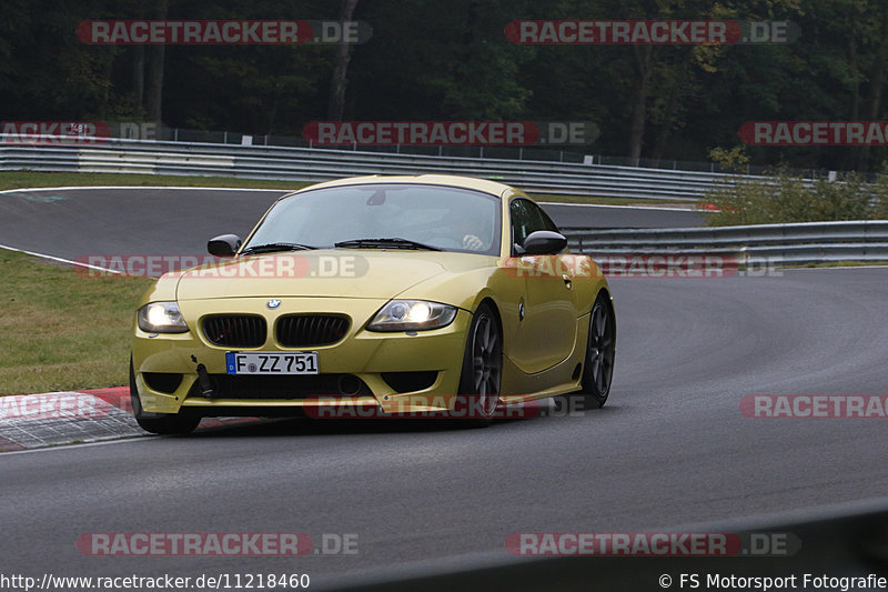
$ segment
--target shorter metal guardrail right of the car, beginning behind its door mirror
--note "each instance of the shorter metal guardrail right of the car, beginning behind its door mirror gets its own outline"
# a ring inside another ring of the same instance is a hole
[[[740,265],[888,261],[888,221],[679,229],[563,228],[571,251],[596,257],[719,254]]]

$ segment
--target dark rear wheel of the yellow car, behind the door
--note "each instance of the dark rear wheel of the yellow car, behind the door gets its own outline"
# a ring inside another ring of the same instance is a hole
[[[581,381],[585,409],[599,409],[610,394],[616,351],[616,320],[606,292],[599,292],[589,314],[589,334]]]

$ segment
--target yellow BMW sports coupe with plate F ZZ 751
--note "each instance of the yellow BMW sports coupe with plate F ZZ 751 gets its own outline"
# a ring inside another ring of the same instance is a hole
[[[150,432],[185,433],[202,417],[350,405],[475,424],[556,394],[599,407],[613,303],[566,244],[494,181],[373,175],[289,193],[245,241],[212,239],[219,261],[142,297],[133,412]]]

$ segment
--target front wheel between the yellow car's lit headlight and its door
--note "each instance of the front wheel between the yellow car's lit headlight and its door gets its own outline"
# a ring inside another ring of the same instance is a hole
[[[461,398],[457,403],[462,403],[461,407],[470,415],[463,420],[468,427],[490,425],[500,404],[500,387],[503,381],[502,335],[496,312],[491,304],[483,302],[475,310],[468,327],[460,375]]]

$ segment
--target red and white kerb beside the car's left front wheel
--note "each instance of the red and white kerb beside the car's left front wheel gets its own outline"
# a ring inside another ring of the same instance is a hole
[[[255,421],[206,418],[199,430]],[[0,397],[0,452],[137,435],[129,387]]]

